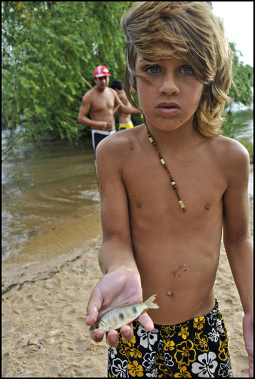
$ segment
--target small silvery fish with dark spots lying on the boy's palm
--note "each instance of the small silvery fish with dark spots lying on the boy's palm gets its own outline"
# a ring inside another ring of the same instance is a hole
[[[123,327],[123,325],[135,320],[143,312],[147,311],[147,309],[159,308],[159,305],[153,303],[155,298],[156,295],[152,295],[143,303],[113,308],[103,314],[103,316],[90,327],[90,330],[103,329],[104,331],[109,331],[110,329],[119,329]]]

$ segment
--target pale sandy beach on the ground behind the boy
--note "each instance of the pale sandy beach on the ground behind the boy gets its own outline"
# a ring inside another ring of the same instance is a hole
[[[253,230],[253,198],[250,198]],[[105,378],[107,345],[90,340],[85,313],[101,278],[100,243],[39,263],[3,263],[2,377]],[[236,378],[248,377],[243,309],[223,245],[216,277]]]

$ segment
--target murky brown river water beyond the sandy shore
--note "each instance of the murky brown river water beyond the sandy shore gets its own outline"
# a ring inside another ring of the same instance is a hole
[[[249,136],[252,133],[253,126]],[[5,137],[3,132],[3,148]],[[99,191],[90,136],[78,145],[50,141],[41,149],[22,147],[3,162],[3,260],[38,262],[99,240]]]

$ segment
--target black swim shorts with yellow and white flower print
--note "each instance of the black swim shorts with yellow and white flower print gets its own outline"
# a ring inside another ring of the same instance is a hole
[[[227,330],[218,301],[207,315],[153,331],[136,320],[132,340],[108,350],[108,377],[231,378]]]

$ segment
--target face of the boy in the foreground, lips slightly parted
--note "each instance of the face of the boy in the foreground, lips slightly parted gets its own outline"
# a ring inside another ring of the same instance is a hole
[[[149,126],[176,130],[185,123],[193,125],[204,85],[187,61],[172,58],[148,63],[138,57],[136,72],[139,103]]]

